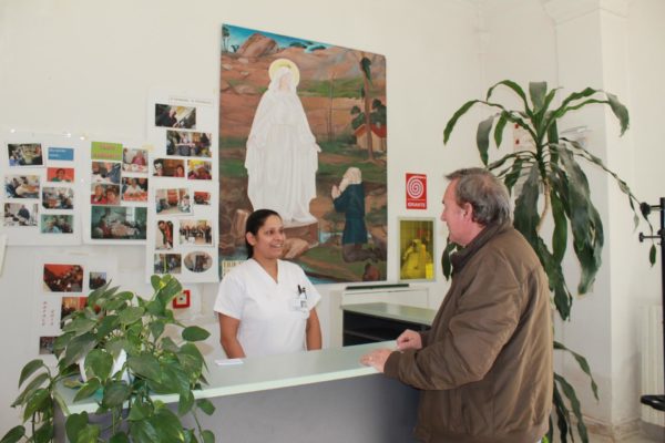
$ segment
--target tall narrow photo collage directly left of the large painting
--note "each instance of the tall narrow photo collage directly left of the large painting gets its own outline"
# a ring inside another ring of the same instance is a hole
[[[146,278],[217,281],[216,109],[213,99],[155,92],[147,110],[155,146],[146,241]]]

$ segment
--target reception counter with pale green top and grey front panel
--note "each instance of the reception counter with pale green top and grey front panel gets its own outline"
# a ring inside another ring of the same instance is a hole
[[[216,411],[200,414],[202,424],[224,442],[415,441],[418,391],[361,365],[360,357],[375,348],[395,348],[395,342],[247,358],[231,365],[212,358],[209,384],[195,395],[209,399]],[[96,410],[92,400],[74,403],[74,390],[64,388],[62,394],[72,413]],[[176,395],[155,399],[177,402]]]

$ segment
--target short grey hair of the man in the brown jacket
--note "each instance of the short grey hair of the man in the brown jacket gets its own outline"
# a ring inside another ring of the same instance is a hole
[[[457,181],[457,204],[469,203],[473,207],[473,222],[487,226],[511,219],[508,188],[491,172],[469,167],[448,174],[446,178]]]

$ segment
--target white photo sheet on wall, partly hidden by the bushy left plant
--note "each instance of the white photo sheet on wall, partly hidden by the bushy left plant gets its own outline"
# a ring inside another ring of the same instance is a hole
[[[35,330],[38,353],[53,353],[64,318],[85,308],[88,293],[116,278],[115,259],[96,256],[45,256],[35,264]]]

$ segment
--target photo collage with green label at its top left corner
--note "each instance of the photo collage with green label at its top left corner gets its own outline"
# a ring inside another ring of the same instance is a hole
[[[90,243],[143,244],[147,224],[149,150],[123,143],[90,146]]]

